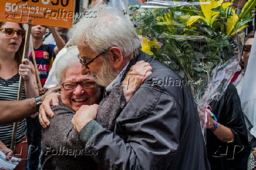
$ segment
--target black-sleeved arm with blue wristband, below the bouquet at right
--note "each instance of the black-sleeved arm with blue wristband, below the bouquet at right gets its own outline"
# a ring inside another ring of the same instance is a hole
[[[239,146],[247,145],[248,135],[244,113],[235,86],[230,83],[220,100],[212,101],[210,106],[211,112],[215,114],[218,122],[218,127],[213,132],[214,135],[223,142],[233,142],[234,145]],[[213,126],[213,118],[209,117],[210,125]]]

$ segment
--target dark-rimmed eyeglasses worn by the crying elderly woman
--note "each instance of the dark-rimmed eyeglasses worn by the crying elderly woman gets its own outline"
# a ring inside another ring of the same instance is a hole
[[[84,81],[69,81],[62,83],[62,86],[66,90],[76,89],[76,86],[82,86],[84,89],[92,88],[96,85],[95,81],[93,80],[84,80]]]

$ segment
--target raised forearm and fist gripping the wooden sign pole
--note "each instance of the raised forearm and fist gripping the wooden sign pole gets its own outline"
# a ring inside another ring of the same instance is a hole
[[[26,98],[32,98],[39,95],[36,77],[35,74],[32,74],[32,70],[35,73],[35,67],[33,67],[33,64],[29,62],[28,59],[23,59],[22,64],[19,65],[19,75],[22,75],[25,81]]]

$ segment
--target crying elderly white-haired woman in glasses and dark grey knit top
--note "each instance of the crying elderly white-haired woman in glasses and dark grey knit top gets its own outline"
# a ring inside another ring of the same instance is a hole
[[[51,107],[55,117],[50,118],[50,127],[43,129],[43,169],[99,168],[89,157],[97,152],[85,149],[71,123],[73,115],[81,106],[95,104],[98,107],[96,104],[99,104],[102,97],[102,87],[95,83],[92,76],[81,74],[82,65],[77,56],[77,47],[69,47],[68,52],[56,64],[56,79],[62,87],[59,106]],[[134,65],[133,74],[130,74],[136,76],[126,76],[126,80],[129,79],[129,89],[133,90],[127,90],[124,84],[123,88],[115,87],[114,93],[100,103],[96,121],[109,130],[113,130],[116,117],[132,97],[131,94],[143,83],[136,81],[139,79],[137,75],[148,69],[140,68],[137,69],[140,71],[136,71],[136,66],[139,68],[140,63]]]

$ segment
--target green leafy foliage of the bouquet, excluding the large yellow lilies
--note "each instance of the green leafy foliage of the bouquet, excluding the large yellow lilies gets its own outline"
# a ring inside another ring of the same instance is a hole
[[[130,19],[137,23],[139,35],[163,43],[159,50],[151,49],[153,56],[184,79],[196,82],[188,84],[196,101],[203,95],[203,88],[206,87],[196,85],[202,80],[207,82],[218,63],[225,63],[237,53],[238,56],[241,55],[243,39],[237,34],[226,35],[227,25],[230,24],[227,19],[234,12],[231,6],[211,9],[220,13],[211,25],[198,19],[189,26],[187,21],[191,16],[204,16],[200,5],[156,9],[140,9],[137,5],[130,5],[128,9],[134,12]],[[244,19],[237,22],[234,30],[249,21],[250,19]]]

